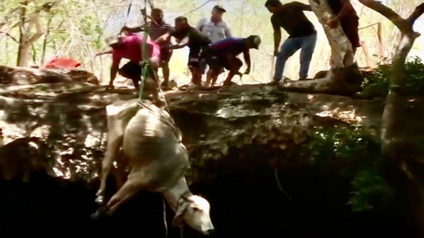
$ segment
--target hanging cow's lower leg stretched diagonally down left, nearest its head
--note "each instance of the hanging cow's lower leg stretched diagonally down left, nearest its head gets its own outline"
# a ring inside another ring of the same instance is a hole
[[[107,215],[112,215],[118,207],[130,200],[138,191],[145,188],[145,182],[139,176],[140,172],[131,170],[128,180],[122,185],[118,192],[112,196],[106,205]]]

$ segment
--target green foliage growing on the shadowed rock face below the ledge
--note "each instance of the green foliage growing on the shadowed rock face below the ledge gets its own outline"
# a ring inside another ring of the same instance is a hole
[[[351,181],[353,212],[373,208],[388,192],[378,168],[380,145],[363,127],[317,128],[308,143],[312,166]]]

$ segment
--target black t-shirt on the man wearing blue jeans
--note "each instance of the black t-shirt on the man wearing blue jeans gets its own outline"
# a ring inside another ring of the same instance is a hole
[[[282,27],[289,34],[289,38],[316,34],[315,27],[303,13],[308,7],[309,5],[298,1],[283,4],[281,10],[271,16],[272,27]]]

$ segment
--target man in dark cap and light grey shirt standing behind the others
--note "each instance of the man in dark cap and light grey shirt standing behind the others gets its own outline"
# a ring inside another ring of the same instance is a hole
[[[196,29],[207,35],[212,42],[216,42],[227,37],[231,37],[231,29],[228,24],[222,20],[222,15],[226,10],[221,5],[212,8],[211,16],[200,19]]]

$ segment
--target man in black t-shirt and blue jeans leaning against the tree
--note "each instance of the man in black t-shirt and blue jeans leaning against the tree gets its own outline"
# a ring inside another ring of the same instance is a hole
[[[298,49],[301,50],[299,79],[306,79],[316,43],[315,27],[303,13],[303,11],[312,10],[310,5],[297,1],[281,4],[279,0],[267,0],[265,7],[273,13],[271,23],[274,29],[274,56],[277,56],[273,83],[278,83],[281,80],[285,62]],[[287,31],[289,36],[278,52],[281,41],[280,28]]]

